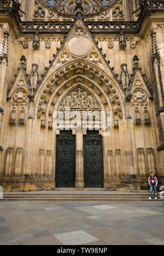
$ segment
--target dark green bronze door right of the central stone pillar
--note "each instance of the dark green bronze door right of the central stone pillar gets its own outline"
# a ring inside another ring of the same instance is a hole
[[[86,188],[103,188],[103,145],[99,131],[84,136],[84,179]]]

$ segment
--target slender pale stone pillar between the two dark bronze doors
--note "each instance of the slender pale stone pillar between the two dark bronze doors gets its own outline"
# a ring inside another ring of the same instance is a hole
[[[76,179],[75,188],[84,188],[83,131],[76,134]]]

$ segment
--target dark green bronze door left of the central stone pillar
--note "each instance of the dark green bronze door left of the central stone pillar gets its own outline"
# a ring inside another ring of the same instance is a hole
[[[75,187],[75,136],[60,131],[56,138],[56,187]]]

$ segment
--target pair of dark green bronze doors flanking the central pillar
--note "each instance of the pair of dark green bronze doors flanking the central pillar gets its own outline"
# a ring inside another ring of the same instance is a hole
[[[56,139],[56,187],[75,187],[75,136],[60,131]],[[84,183],[86,188],[103,188],[103,145],[98,131],[84,136]]]

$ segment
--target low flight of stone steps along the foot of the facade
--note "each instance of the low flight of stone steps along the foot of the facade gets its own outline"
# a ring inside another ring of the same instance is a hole
[[[62,193],[63,192],[63,193]],[[149,193],[131,193],[107,190],[53,190],[4,193],[1,201],[148,201]],[[159,199],[160,201],[164,201]]]

